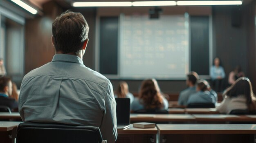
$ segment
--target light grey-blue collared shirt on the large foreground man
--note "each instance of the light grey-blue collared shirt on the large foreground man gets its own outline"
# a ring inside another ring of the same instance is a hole
[[[112,84],[77,56],[56,54],[25,75],[18,103],[23,121],[93,125],[108,143],[117,139]]]

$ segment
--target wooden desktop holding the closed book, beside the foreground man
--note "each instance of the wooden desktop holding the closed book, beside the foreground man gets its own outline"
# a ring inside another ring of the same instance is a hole
[[[130,124],[130,128],[124,130],[118,129],[118,134],[157,134],[157,128],[133,128],[133,124]]]

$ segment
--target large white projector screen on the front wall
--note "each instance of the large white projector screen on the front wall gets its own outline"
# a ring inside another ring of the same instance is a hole
[[[189,22],[185,15],[120,16],[121,78],[186,78]]]

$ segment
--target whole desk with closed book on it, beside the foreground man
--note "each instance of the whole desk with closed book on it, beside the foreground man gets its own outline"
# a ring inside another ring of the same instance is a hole
[[[117,130],[117,143],[156,143],[157,128],[130,128]]]

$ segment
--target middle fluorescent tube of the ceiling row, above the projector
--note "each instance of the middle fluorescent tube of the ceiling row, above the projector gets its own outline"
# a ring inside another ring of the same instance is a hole
[[[141,7],[141,6],[173,6],[176,5],[175,1],[141,1],[141,2],[132,2],[132,6]]]

